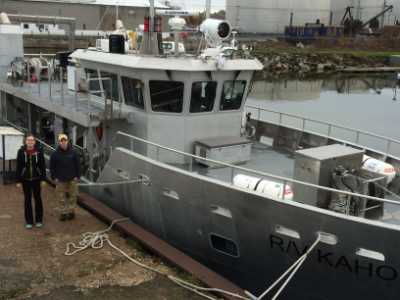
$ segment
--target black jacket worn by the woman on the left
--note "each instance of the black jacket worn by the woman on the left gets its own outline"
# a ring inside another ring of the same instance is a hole
[[[17,154],[17,180],[46,180],[46,164],[43,149],[35,145],[35,151],[28,154],[26,146],[22,146]]]

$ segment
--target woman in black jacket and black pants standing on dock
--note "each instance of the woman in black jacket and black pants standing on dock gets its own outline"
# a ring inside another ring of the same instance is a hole
[[[43,226],[43,203],[41,186],[46,180],[46,165],[43,150],[36,144],[32,134],[25,137],[25,145],[18,150],[17,155],[17,187],[23,188],[25,197],[25,227],[31,229],[34,224],[32,195],[35,199],[35,224]]]

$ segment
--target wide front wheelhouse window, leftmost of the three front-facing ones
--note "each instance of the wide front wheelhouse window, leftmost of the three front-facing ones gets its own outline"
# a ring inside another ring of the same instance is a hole
[[[150,81],[151,108],[157,112],[181,113],[184,83],[178,81]]]

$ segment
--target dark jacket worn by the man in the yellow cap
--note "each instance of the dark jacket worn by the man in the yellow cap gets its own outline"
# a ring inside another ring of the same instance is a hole
[[[71,148],[63,150],[60,147],[50,157],[51,178],[61,182],[79,178],[80,162],[78,154]]]

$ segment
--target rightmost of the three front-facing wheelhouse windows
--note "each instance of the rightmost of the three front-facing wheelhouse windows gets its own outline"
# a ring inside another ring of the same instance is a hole
[[[244,90],[246,88],[245,80],[225,81],[222,90],[220,110],[238,110],[242,106]]]

